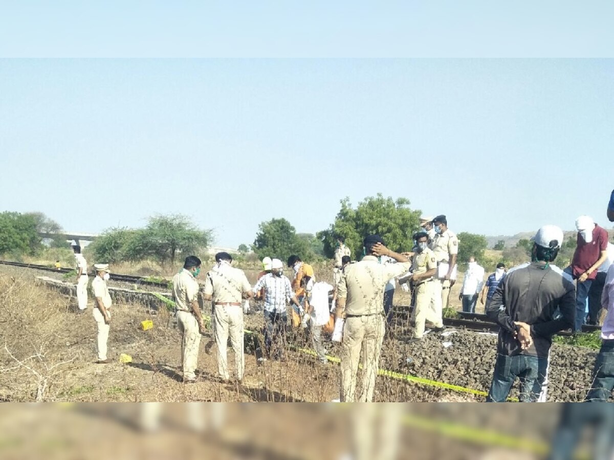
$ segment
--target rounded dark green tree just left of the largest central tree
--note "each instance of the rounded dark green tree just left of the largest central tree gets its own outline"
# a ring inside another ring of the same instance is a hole
[[[252,250],[258,259],[269,256],[283,262],[293,254],[307,260],[309,253],[305,240],[298,237],[295,228],[284,218],[262,222],[258,226]]]

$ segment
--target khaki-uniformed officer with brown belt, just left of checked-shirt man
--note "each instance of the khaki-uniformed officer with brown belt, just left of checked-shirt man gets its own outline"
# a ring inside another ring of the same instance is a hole
[[[226,252],[216,254],[217,266],[207,274],[204,299],[213,301],[217,345],[217,372],[222,380],[230,380],[228,372],[228,335],[235,352],[236,378],[243,380],[245,356],[243,348],[243,298],[252,297],[252,286],[243,270],[231,267],[232,257]]]

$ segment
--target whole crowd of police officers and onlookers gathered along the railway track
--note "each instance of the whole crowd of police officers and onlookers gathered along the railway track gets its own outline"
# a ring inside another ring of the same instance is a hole
[[[608,204],[608,219],[614,221],[614,191]],[[327,365],[324,332],[341,342],[340,401],[373,400],[381,348],[391,329],[392,299],[396,283],[412,293],[413,328],[408,342],[419,344],[427,322],[434,332],[443,330],[443,308],[448,306],[450,288],[456,283],[459,240],[445,215],[421,218],[421,231],[413,236],[411,251],[397,253],[387,248],[381,236],[363,240],[363,256],[352,261],[343,236],[337,237],[333,285],[317,281],[313,267],[297,255],[287,260],[293,279],[284,275],[281,259],[263,259],[263,271],[252,286],[243,270],[232,266],[232,256],[217,253],[216,264],[200,285],[201,260],[185,258],[173,278],[177,326],[182,334],[182,370],[185,383],[196,381],[196,365],[205,321],[199,304],[211,302],[220,379],[243,380],[244,313],[249,300],[262,301],[264,343],[259,361],[286,361],[286,331],[289,323],[308,328],[322,365]],[[516,378],[520,401],[545,401],[549,356],[554,334],[566,329],[581,331],[588,321],[600,322],[602,348],[597,356],[587,401],[607,401],[614,389],[614,246],[608,234],[593,219],[576,221],[577,248],[572,263],[564,270],[554,264],[564,240],[553,225],[538,229],[531,261],[506,271],[499,263],[484,282],[484,269],[475,258],[468,261],[459,294],[464,312],[475,313],[478,299],[489,319],[500,326],[497,358],[487,401],[508,399]],[[77,261],[79,312],[87,309],[87,262],[74,247]],[[93,309],[98,328],[99,363],[109,362],[106,342],[111,323],[111,297],[106,280],[108,264],[95,264],[92,283],[96,298]],[[86,288],[84,288],[86,286]],[[332,302],[329,302],[332,297]],[[592,303],[591,303],[592,299]],[[588,302],[588,318],[586,304]],[[291,305],[291,309],[288,306]],[[235,353],[231,376],[227,361],[230,338]],[[357,370],[362,362],[362,385],[357,394]]]

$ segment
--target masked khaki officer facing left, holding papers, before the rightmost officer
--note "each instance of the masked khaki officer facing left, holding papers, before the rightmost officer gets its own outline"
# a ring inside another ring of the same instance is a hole
[[[412,258],[411,275],[403,278],[402,283],[413,282],[416,303],[414,318],[416,326],[410,342],[417,342],[424,335],[424,323],[437,324],[441,318],[433,315],[430,302],[433,298],[433,277],[437,275],[437,261],[435,254],[428,246],[429,235],[426,232],[418,232],[414,235],[416,240],[416,253]],[[400,281],[401,282],[401,281]]]

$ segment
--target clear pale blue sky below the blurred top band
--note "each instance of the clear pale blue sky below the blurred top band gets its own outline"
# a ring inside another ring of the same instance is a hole
[[[219,245],[349,196],[487,235],[605,224],[608,59],[4,59],[0,210],[71,231],[184,213]]]

